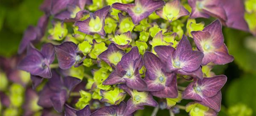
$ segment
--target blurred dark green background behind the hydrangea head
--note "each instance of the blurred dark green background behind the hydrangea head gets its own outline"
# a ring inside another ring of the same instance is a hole
[[[17,54],[23,32],[29,25],[35,26],[43,14],[39,10],[41,3],[42,0],[0,0],[1,58],[12,58]],[[206,25],[213,20],[200,19]],[[228,82],[222,89],[222,108],[219,116],[256,116],[256,37],[248,32],[227,27],[223,27],[223,34],[229,53],[235,60],[213,69],[216,75],[225,74],[228,77]],[[2,77],[0,82],[5,83]],[[0,88],[0,91],[7,92],[8,89]],[[0,109],[4,112],[6,108]],[[135,116],[150,116],[152,110],[152,107],[146,107],[145,110],[139,110]],[[181,111],[176,116],[187,116],[186,114]],[[159,110],[158,116],[168,115],[168,110]]]

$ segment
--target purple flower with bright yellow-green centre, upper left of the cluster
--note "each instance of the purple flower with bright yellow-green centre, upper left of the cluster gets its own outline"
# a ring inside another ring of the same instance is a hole
[[[75,25],[78,26],[78,31],[86,34],[94,35],[95,33],[105,36],[104,20],[109,13],[110,6],[105,6],[95,13],[90,13],[90,18],[83,21],[76,21]]]

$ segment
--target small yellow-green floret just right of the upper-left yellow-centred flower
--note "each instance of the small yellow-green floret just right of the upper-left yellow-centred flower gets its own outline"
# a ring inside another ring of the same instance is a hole
[[[104,30],[106,33],[111,34],[116,32],[117,24],[118,22],[115,19],[112,19],[111,17],[108,17],[105,19],[105,26]]]

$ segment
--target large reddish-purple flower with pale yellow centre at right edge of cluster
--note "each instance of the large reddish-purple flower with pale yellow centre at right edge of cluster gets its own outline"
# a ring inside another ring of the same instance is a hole
[[[224,44],[220,20],[215,20],[203,31],[191,32],[191,34],[197,48],[204,53],[203,65],[210,62],[227,64],[234,60],[233,56],[228,54],[227,46]]]

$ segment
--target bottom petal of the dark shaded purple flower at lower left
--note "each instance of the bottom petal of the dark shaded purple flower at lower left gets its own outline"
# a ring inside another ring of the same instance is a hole
[[[51,97],[51,102],[53,105],[53,108],[57,112],[62,112],[63,106],[66,102],[67,97],[67,91],[66,90],[61,90],[59,93],[55,93],[53,97]]]

